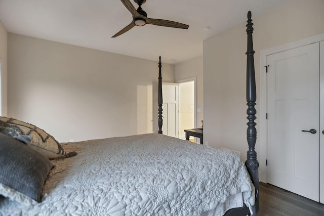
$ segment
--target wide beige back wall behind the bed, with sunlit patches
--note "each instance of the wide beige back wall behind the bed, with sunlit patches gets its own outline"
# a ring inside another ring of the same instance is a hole
[[[157,61],[9,33],[8,116],[59,142],[146,133],[150,116],[157,131]]]

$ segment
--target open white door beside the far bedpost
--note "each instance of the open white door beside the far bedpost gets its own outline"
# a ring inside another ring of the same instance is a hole
[[[163,82],[163,124],[162,132],[170,137],[179,137],[179,85]]]

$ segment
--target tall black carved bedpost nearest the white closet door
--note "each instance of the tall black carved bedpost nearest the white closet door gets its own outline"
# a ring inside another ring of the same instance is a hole
[[[255,186],[255,196],[256,203],[252,207],[253,214],[258,215],[259,211],[259,162],[257,160],[257,153],[254,150],[255,143],[257,141],[257,129],[255,128],[256,123],[254,120],[256,119],[255,114],[257,113],[254,106],[256,105],[256,85],[255,85],[255,71],[254,71],[254,50],[253,50],[253,41],[252,41],[252,33],[253,33],[253,23],[251,19],[251,11],[248,13],[248,24],[247,24],[247,34],[248,34],[248,51],[247,55],[247,105],[248,105],[248,130],[247,130],[247,139],[249,144],[249,151],[247,152],[247,161],[246,166],[248,172],[251,176],[252,183]]]

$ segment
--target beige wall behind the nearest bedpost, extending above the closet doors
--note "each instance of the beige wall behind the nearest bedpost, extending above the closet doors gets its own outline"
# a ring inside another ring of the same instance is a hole
[[[252,11],[257,94],[260,51],[324,33],[323,11],[322,0],[296,0],[260,17],[253,17]],[[204,41],[204,140],[212,146],[240,151],[242,159],[248,150],[245,25],[242,22]],[[256,108],[259,110],[258,101]],[[257,118],[261,116],[257,114]]]

